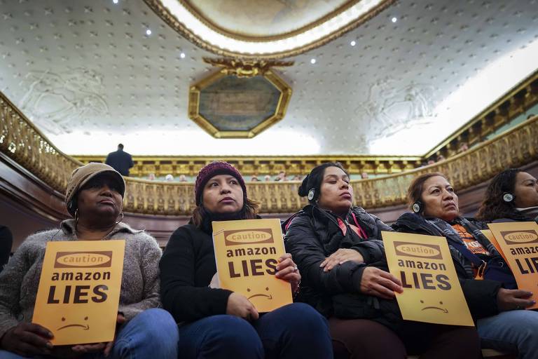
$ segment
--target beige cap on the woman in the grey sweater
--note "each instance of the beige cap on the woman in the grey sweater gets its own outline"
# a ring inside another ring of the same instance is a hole
[[[74,170],[71,174],[71,179],[69,179],[69,182],[67,183],[65,205],[67,207],[67,212],[69,212],[71,215],[74,216],[76,210],[76,206],[71,205],[71,200],[75,194],[77,194],[77,192],[84,187],[84,184],[88,183],[90,179],[97,175],[109,175],[113,179],[116,179],[118,184],[120,184],[121,196],[123,197],[125,194],[125,180],[123,179],[123,176],[120,175],[120,172],[114,170],[109,165],[105,165],[104,163],[88,163],[87,165],[83,165],[82,167]]]

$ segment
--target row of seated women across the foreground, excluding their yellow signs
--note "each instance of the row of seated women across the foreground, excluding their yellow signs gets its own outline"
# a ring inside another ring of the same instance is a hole
[[[289,253],[275,274],[291,283],[294,303],[258,313],[216,280],[212,222],[259,218],[258,203],[232,165],[200,170],[191,222],[174,231],[162,257],[151,236],[121,223],[123,177],[101,163],[78,168],[66,195],[73,219],[29,236],[0,273],[0,357],[480,358],[485,347],[532,358],[538,352],[538,313],[523,310],[533,304],[530,292],[516,289],[509,271],[477,280],[480,271],[465,248],[483,262],[502,258],[478,231],[484,222],[460,217],[442,174],[414,180],[413,213],[394,228],[353,205],[350,176],[339,163],[314,168],[299,194],[309,204],[284,222]],[[527,220],[536,206],[536,179],[509,170],[492,180],[479,215],[489,222]],[[395,293],[403,287],[388,271],[381,237],[394,230],[446,237],[476,329],[401,318]],[[126,239],[116,339],[53,346],[48,328],[32,323],[46,243],[114,239]]]

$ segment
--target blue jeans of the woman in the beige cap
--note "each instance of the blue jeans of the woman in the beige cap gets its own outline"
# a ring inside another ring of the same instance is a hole
[[[148,309],[132,318],[118,332],[108,358],[145,359],[177,358],[177,324],[163,309]],[[34,358],[50,358],[34,357]],[[84,359],[102,359],[103,353],[82,355]],[[0,359],[26,359],[26,357],[0,351]]]

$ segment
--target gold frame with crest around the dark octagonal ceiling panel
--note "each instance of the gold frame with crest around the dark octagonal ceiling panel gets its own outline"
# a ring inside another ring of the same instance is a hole
[[[259,133],[261,133],[266,128],[273,126],[278,121],[284,118],[286,110],[288,108],[289,99],[291,98],[291,88],[288,84],[282,80],[273,70],[270,69],[272,63],[276,63],[278,66],[290,66],[293,65],[293,62],[251,62],[251,61],[242,61],[242,60],[211,60],[204,59],[207,61],[214,61],[218,63],[219,66],[223,67],[220,71],[214,72],[209,76],[205,77],[195,83],[191,88],[189,88],[188,93],[188,117],[191,118],[198,126],[205,130],[209,135],[212,135],[216,138],[252,138]],[[280,65],[279,65],[280,64]],[[289,64],[289,65],[288,65]],[[275,113],[265,118],[261,123],[256,127],[247,131],[224,131],[219,130],[212,123],[207,120],[202,114],[200,114],[200,92],[210,86],[215,81],[222,79],[226,76],[231,76],[232,74],[240,74],[239,77],[253,77],[253,76],[263,76],[265,79],[273,83],[273,86],[280,91],[280,98],[278,100]]]

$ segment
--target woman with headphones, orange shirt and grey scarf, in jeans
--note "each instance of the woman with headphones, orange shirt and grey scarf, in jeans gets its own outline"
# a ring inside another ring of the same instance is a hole
[[[416,177],[408,200],[413,213],[401,215],[394,229],[446,238],[483,348],[536,358],[538,312],[522,310],[534,304],[532,293],[516,289],[504,259],[481,233],[483,224],[460,216],[448,179],[442,173]]]

